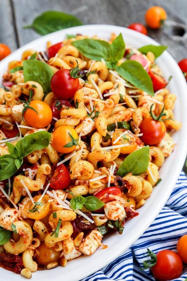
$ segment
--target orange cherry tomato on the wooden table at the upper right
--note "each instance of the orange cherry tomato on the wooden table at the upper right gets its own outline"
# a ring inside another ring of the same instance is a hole
[[[162,7],[153,6],[145,14],[145,20],[148,27],[159,28],[166,20],[167,14]]]

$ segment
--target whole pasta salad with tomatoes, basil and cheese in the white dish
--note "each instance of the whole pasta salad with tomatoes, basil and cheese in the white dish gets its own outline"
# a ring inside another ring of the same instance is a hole
[[[179,130],[165,46],[67,35],[26,50],[0,86],[0,266],[30,278],[122,234]]]

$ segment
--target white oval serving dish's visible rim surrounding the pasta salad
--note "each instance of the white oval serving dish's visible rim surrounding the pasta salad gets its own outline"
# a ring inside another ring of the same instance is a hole
[[[44,51],[46,50],[47,41],[51,41],[53,44],[60,42],[65,39],[65,34],[81,33],[88,36],[97,34],[99,38],[109,39],[111,32],[117,34],[121,32],[126,45],[132,45],[137,48],[148,44],[158,45],[158,43],[150,37],[125,27],[113,25],[71,27],[36,39],[13,52],[0,62],[0,77],[2,77],[2,74],[7,70],[8,62],[21,59],[22,52],[27,49]],[[52,270],[37,271],[32,274],[33,281],[77,281],[101,269],[124,253],[124,251],[141,236],[156,218],[170,196],[187,154],[187,130],[185,128],[187,121],[187,84],[177,63],[167,51],[165,51],[161,57],[157,58],[156,63],[161,67],[166,78],[170,75],[173,77],[168,88],[177,96],[174,110],[175,118],[183,123],[182,129],[172,135],[177,144],[174,152],[165,160],[160,170],[160,177],[162,178],[161,183],[154,188],[151,197],[146,200],[146,204],[138,210],[139,215],[125,224],[123,234],[119,235],[115,233],[109,235],[104,240],[104,244],[108,245],[107,249],[103,250],[99,248],[92,256],[82,256],[68,262],[66,267],[59,266]],[[1,281],[23,279],[22,276],[2,268],[0,268],[0,275]]]

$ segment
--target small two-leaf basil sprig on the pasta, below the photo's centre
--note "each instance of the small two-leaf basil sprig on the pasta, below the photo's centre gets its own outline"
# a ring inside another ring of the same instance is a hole
[[[82,209],[83,206],[90,211],[95,211],[104,206],[104,203],[95,196],[83,197],[82,195],[75,196],[70,200],[70,207],[73,210]]]

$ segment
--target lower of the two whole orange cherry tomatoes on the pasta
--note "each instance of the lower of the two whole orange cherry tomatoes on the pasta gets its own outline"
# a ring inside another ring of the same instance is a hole
[[[52,134],[52,145],[58,152],[70,153],[78,145],[79,136],[74,128],[60,126]],[[65,147],[66,146],[66,147]]]

